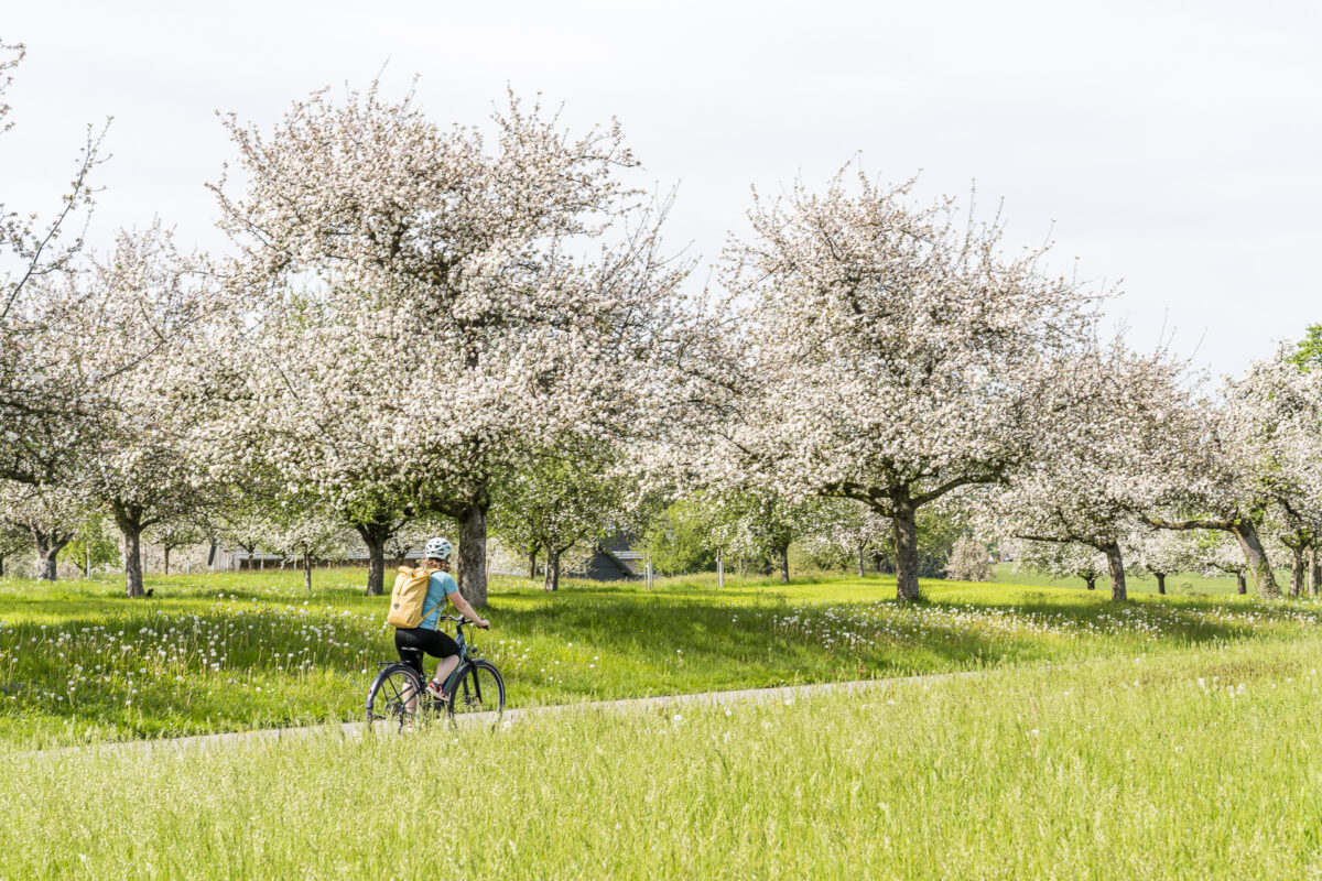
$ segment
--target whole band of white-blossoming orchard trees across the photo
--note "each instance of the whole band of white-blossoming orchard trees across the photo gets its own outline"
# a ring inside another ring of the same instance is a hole
[[[513,94],[485,123],[378,83],[222,123],[225,252],[75,235],[95,131],[58,210],[3,214],[0,522],[41,579],[108,523],[128,596],[144,542],[309,589],[361,548],[374,596],[428,532],[475,604],[489,538],[550,590],[627,536],[657,571],[883,568],[902,602],[994,555],[1117,601],[1136,572],[1318,592],[1315,329],[1215,387],[999,215],[854,166],[755,193],[693,295],[621,127]]]

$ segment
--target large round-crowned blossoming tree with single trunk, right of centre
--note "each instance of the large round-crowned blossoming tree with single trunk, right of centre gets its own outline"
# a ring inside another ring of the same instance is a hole
[[[1040,251],[1003,254],[999,223],[861,174],[758,199],[750,219],[723,271],[743,370],[711,384],[706,465],[890,518],[896,594],[915,600],[917,512],[1005,479],[1063,403],[1052,367],[1088,325],[1079,285],[1043,275]]]

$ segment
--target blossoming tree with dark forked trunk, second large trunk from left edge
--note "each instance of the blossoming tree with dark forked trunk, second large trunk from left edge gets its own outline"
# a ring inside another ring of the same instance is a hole
[[[89,308],[74,357],[100,372],[103,407],[79,420],[83,440],[61,485],[108,510],[123,538],[126,590],[136,597],[143,531],[194,518],[212,498],[201,399],[212,363],[208,321],[223,324],[229,312],[205,263],[180,254],[160,225],[122,234],[75,284]],[[132,369],[98,367],[103,353]],[[151,370],[141,369],[147,361]]]

